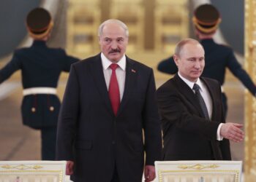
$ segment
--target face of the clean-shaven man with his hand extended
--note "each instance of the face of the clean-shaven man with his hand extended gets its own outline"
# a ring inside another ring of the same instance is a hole
[[[174,55],[173,58],[181,76],[184,76],[190,82],[196,82],[197,78],[203,73],[204,55],[205,52],[200,44],[189,42],[184,45],[180,54]]]

